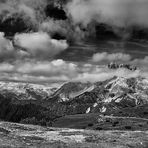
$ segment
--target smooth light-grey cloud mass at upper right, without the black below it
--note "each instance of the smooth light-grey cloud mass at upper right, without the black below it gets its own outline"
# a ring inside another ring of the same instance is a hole
[[[92,21],[125,27],[148,26],[147,0],[72,0],[67,9],[76,23]]]

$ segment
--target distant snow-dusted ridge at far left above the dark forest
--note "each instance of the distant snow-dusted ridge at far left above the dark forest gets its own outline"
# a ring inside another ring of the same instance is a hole
[[[54,93],[55,89],[47,85],[0,82],[0,94],[11,96],[18,100],[45,99]]]

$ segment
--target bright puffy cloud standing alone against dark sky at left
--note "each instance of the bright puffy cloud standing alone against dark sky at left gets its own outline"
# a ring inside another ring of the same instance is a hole
[[[66,40],[51,39],[45,32],[16,34],[14,42],[37,58],[51,58],[68,47]]]

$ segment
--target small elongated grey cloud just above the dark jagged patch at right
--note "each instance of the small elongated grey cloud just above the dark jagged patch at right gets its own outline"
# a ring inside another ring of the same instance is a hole
[[[131,56],[129,54],[124,54],[124,53],[112,53],[109,54],[107,52],[103,53],[96,53],[92,57],[93,62],[102,62],[102,61],[107,61],[107,62],[129,62],[131,60]]]

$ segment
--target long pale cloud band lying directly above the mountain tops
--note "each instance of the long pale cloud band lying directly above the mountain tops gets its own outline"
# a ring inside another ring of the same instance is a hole
[[[15,63],[0,64],[0,79],[26,82],[98,82],[118,77],[148,77],[147,71],[130,71],[128,69],[108,69],[107,66],[66,62],[61,59],[53,61],[25,60]]]

